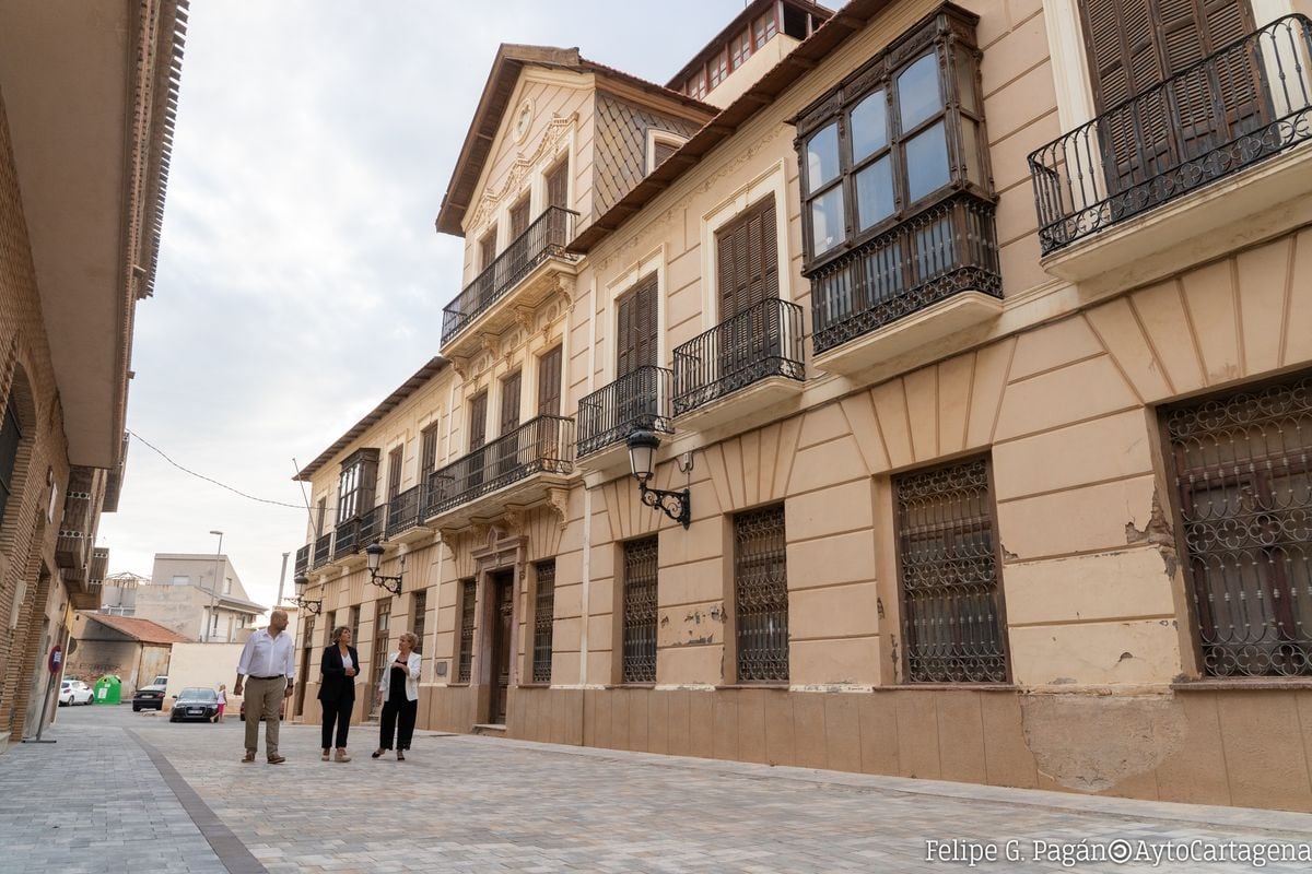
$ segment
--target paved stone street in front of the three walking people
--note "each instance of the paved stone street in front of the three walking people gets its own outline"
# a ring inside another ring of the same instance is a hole
[[[58,743],[0,756],[0,871],[967,871],[926,861],[928,840],[960,839],[996,848],[983,870],[1219,873],[1258,869],[1031,857],[1035,841],[1312,840],[1299,814],[433,732],[374,761],[371,726],[349,764],[321,763],[303,726],[282,729],[286,764],[241,764],[241,729],[63,709]]]

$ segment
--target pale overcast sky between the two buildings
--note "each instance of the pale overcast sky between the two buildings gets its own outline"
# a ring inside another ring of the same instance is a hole
[[[293,459],[312,461],[438,352],[461,241],[433,220],[497,45],[577,46],[665,83],[743,5],[193,3],[127,427],[182,466],[302,504]],[[303,506],[239,498],[134,440],[100,525],[110,573],[213,553],[211,529],[273,604]]]

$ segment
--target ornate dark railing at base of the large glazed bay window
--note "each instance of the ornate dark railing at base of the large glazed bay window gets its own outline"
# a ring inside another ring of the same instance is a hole
[[[960,291],[1002,296],[993,204],[954,194],[810,274],[819,355]]]

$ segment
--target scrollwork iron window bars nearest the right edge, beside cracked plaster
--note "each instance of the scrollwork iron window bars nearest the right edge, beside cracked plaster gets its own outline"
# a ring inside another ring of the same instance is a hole
[[[1203,672],[1312,675],[1312,375],[1164,418]]]

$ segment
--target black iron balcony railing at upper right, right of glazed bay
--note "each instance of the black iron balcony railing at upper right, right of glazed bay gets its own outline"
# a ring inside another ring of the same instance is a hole
[[[1036,149],[1043,254],[1312,139],[1309,59],[1286,16]]]

